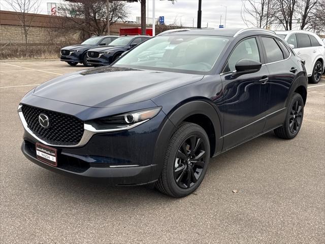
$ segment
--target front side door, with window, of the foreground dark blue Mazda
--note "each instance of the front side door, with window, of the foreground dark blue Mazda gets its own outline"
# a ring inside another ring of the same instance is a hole
[[[224,149],[231,148],[263,131],[265,106],[261,101],[261,90],[269,76],[266,66],[251,74],[234,78],[236,63],[243,59],[264,63],[263,53],[256,37],[250,37],[237,44],[221,74],[223,86]],[[262,95],[263,96],[263,95]]]

